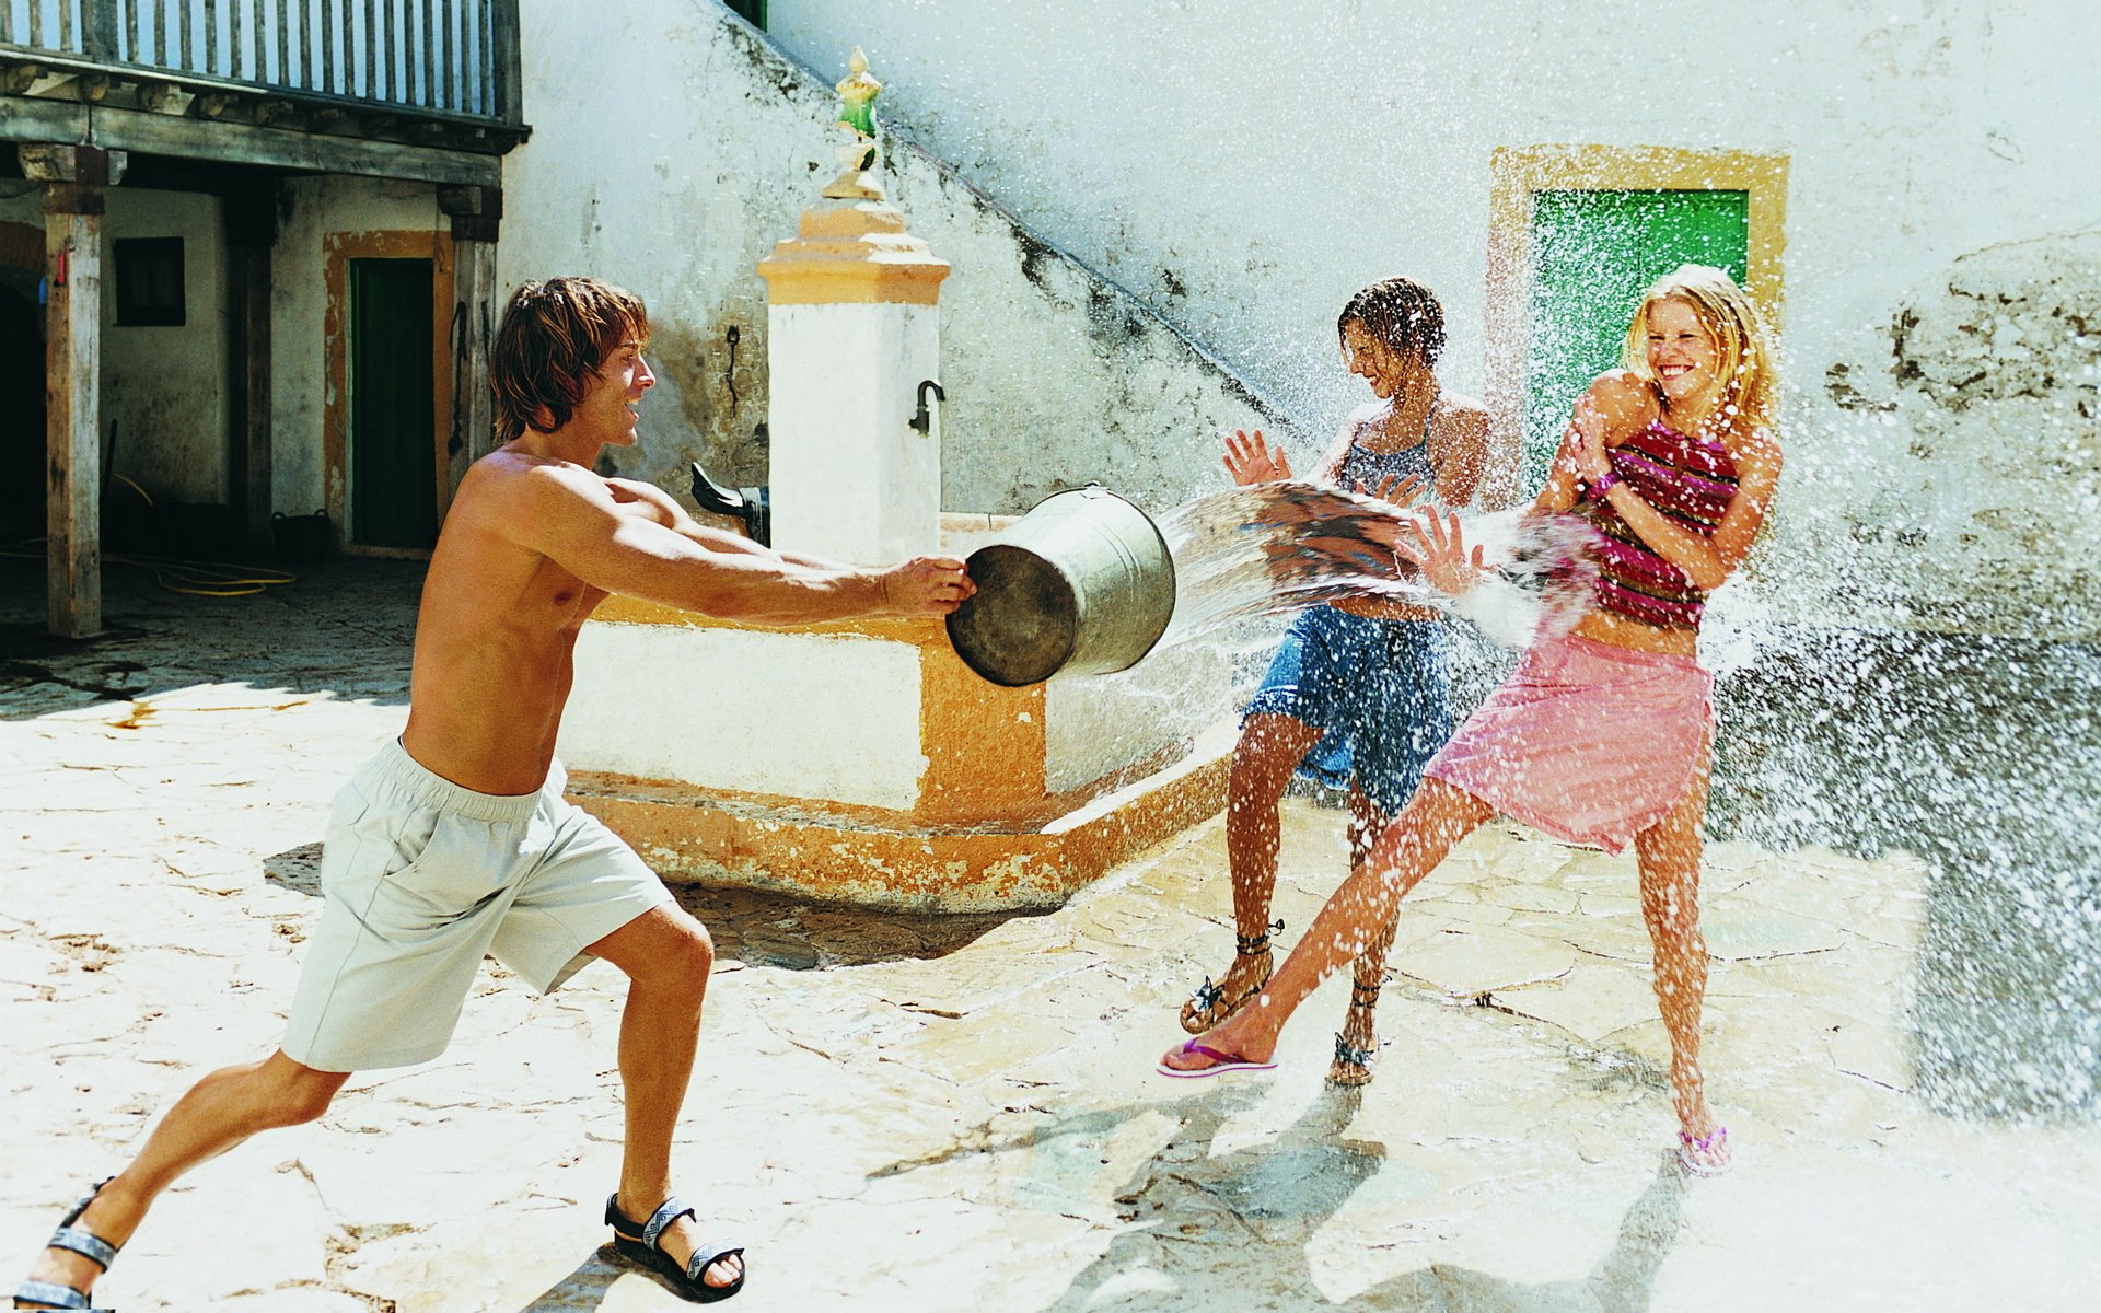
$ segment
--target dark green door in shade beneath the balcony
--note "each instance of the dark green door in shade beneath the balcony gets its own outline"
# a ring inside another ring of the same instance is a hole
[[[437,542],[431,260],[351,260],[351,542]]]

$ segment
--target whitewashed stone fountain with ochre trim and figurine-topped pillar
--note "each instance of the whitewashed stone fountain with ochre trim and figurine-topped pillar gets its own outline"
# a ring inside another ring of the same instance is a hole
[[[939,508],[939,401],[922,384],[941,376],[950,265],[868,172],[876,86],[855,53],[847,168],[758,265],[773,544],[861,565],[962,555],[998,527]],[[1229,672],[1208,649],[1004,689],[935,620],[754,628],[609,599],[576,664],[569,792],[668,878],[1044,908],[1225,800]]]

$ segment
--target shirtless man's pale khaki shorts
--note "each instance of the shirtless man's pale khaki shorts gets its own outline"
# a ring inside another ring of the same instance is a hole
[[[336,794],[321,924],[284,1053],[317,1071],[405,1067],[445,1050],[483,956],[540,994],[670,891],[597,817],[538,794],[460,788],[387,744]]]

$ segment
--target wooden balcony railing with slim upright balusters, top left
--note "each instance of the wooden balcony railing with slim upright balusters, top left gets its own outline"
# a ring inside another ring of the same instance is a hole
[[[0,0],[0,55],[521,126],[517,0]]]

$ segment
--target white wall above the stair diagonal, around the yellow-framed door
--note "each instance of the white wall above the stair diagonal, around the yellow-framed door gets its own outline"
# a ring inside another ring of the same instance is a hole
[[[866,46],[895,130],[1313,433],[1355,395],[1332,324],[1374,277],[1437,288],[1450,376],[1481,384],[1496,147],[1784,153],[1777,613],[2101,632],[2101,336],[2076,309],[2101,288],[2095,6],[1151,0],[1074,21],[1023,0],[803,0],[769,19],[817,69]],[[1994,288],[1950,292],[1983,269]],[[2002,363],[1998,286],[2023,332],[2057,334],[2021,347],[2051,357],[2032,403],[1920,384],[1912,370]],[[1914,313],[1941,328],[1899,332]],[[2009,561],[2030,563],[2011,597]]]

